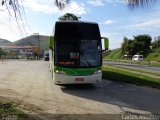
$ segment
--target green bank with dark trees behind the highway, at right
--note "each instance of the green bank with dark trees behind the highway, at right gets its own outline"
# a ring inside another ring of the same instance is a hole
[[[144,61],[160,62],[160,36],[154,40],[147,34],[136,35],[132,39],[124,37],[121,47],[105,51],[103,59],[131,60],[133,55],[143,55]]]

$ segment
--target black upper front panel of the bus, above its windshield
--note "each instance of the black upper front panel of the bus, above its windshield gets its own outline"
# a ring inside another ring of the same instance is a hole
[[[87,39],[100,40],[97,23],[85,21],[57,21],[54,31],[55,39]]]

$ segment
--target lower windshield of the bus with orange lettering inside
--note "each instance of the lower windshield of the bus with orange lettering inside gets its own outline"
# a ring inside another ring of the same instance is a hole
[[[101,66],[101,47],[97,40],[58,42],[55,65],[63,67]]]

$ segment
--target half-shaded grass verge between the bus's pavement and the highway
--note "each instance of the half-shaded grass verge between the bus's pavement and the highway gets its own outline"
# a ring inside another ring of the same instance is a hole
[[[103,78],[105,79],[157,88],[160,86],[160,79],[158,78],[152,78],[146,75],[120,70],[116,67],[104,66],[102,71]]]

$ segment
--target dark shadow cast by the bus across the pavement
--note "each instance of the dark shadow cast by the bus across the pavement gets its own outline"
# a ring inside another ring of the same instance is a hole
[[[160,113],[160,91],[104,80],[100,84],[67,85],[61,90],[73,96],[98,102]]]

